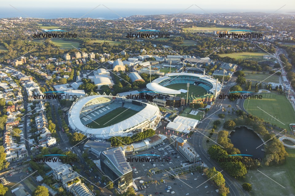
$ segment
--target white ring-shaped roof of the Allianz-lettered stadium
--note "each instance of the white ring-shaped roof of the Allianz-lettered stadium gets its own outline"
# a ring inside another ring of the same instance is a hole
[[[89,95],[86,94],[84,97],[77,98],[73,105],[69,109],[69,126],[76,132],[85,134],[88,137],[99,137],[99,138],[109,138],[112,136],[120,136],[124,133],[131,132],[133,130],[139,129],[143,126],[146,126],[147,123],[150,122],[151,119],[156,119],[154,117],[159,117],[159,108],[156,104],[148,102],[146,107],[136,113],[135,115],[131,116],[128,119],[124,119],[122,122],[117,123],[115,125],[111,125],[104,128],[92,129],[86,127],[82,124],[80,120],[80,112],[83,106],[86,103],[89,103],[90,100],[98,98],[98,97],[114,97],[111,94],[108,96],[105,93],[100,95],[99,93],[90,93]],[[119,96],[115,96],[118,97]],[[125,99],[124,97],[120,97]],[[142,103],[142,102],[141,102]]]

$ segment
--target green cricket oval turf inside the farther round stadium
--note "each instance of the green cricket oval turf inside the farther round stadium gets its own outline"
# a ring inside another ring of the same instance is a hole
[[[184,84],[172,84],[172,85],[168,85],[166,86],[168,89],[174,89],[174,90],[187,90],[187,83]],[[196,85],[192,85],[190,84],[190,87],[188,87],[188,95],[191,96],[191,94],[193,94],[193,96],[201,96],[207,94],[207,91],[205,89],[203,89],[200,86],[196,86]],[[177,96],[181,96],[181,97],[187,97],[187,92],[182,92],[180,94],[178,94]]]

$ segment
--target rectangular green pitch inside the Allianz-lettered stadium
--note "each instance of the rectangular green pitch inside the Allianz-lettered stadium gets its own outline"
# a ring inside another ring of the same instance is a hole
[[[124,119],[128,119],[129,117],[135,115],[138,111],[134,111],[132,109],[119,107],[108,114],[96,119],[95,122],[91,122],[87,125],[87,127],[91,127],[93,129],[103,128],[107,126],[114,125],[116,123],[120,123]],[[98,124],[99,125],[98,125]]]

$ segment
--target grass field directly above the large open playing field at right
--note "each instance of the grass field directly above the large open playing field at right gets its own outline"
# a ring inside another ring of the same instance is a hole
[[[255,85],[255,83],[253,84],[253,81],[261,82],[265,78],[267,78],[271,75],[271,74],[263,74],[262,71],[260,71],[259,74],[257,74],[257,72],[256,72],[256,74],[252,74],[253,70],[243,70],[243,72],[246,74],[246,76],[245,76],[246,80],[252,81],[252,85]],[[274,75],[270,76],[269,78],[267,78],[264,82],[280,83],[280,76],[274,74]],[[263,84],[262,84],[262,87],[263,87]]]

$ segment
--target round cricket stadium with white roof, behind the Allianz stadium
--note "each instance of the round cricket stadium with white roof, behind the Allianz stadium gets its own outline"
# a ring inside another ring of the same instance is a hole
[[[148,83],[147,88],[164,95],[184,97],[187,95],[187,83],[190,83],[189,95],[194,96],[212,94],[216,97],[222,88],[220,82],[210,76],[191,73],[165,74]]]

